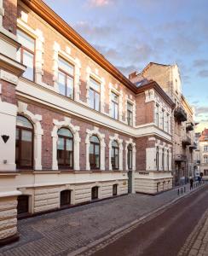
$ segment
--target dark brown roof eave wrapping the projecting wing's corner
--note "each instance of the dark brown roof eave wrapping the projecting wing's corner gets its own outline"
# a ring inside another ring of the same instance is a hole
[[[154,89],[156,90],[160,96],[162,96],[165,99],[165,102],[167,102],[170,105],[170,108],[175,108],[176,104],[170,99],[170,96],[168,96],[165,91],[159,86],[159,84],[155,81],[150,81],[148,84],[143,84],[137,88],[136,94],[142,93],[145,90]]]

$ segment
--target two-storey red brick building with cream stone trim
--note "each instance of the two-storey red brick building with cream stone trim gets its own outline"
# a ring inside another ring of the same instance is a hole
[[[17,217],[170,189],[174,107],[42,1],[0,0],[0,241]]]

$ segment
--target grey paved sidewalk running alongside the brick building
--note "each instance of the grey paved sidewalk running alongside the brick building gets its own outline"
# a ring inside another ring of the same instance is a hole
[[[188,185],[186,190],[188,194]],[[177,189],[155,196],[131,194],[22,219],[18,221],[20,240],[1,247],[0,255],[67,255],[177,197]]]

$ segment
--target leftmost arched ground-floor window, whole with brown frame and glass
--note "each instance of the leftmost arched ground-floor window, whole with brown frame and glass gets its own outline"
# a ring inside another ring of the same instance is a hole
[[[16,119],[15,163],[17,168],[33,167],[33,126],[24,116]]]

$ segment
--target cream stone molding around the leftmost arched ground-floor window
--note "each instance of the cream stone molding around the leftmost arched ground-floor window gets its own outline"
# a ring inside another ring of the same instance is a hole
[[[27,110],[27,104],[18,102],[17,114],[22,114],[32,121],[34,125],[34,170],[42,170],[42,136],[43,129],[40,121],[42,116]]]

